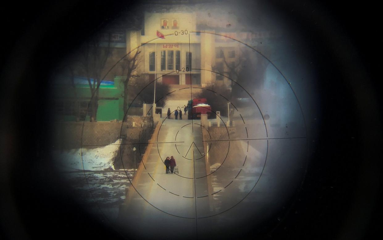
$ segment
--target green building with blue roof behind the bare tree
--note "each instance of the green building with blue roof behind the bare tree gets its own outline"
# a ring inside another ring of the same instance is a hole
[[[114,81],[101,81],[97,109],[97,121],[122,120],[124,117],[124,76],[116,76]],[[91,92],[88,80],[75,78],[75,88],[68,78],[58,78],[54,84],[54,111],[57,120],[79,121],[90,120],[88,104]],[[91,79],[93,83],[93,79]]]

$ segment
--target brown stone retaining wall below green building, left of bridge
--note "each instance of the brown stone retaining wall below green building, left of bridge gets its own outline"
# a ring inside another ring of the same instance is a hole
[[[129,116],[131,122],[137,121],[137,127],[129,122],[56,122],[52,131],[52,150],[97,148],[122,139],[120,151],[115,156],[115,169],[129,169],[134,166],[133,147],[136,147],[136,166],[144,155],[147,142],[153,134],[152,118]],[[144,124],[142,124],[144,121]],[[141,127],[142,124],[142,127]]]

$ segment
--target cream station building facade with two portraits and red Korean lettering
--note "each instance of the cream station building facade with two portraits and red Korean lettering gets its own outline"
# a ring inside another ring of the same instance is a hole
[[[126,52],[141,51],[138,71],[159,83],[229,85],[227,65],[235,65],[244,43],[256,45],[255,40],[270,37],[266,35],[270,33],[228,31],[216,23],[210,26],[190,12],[146,12],[141,31],[126,32]]]

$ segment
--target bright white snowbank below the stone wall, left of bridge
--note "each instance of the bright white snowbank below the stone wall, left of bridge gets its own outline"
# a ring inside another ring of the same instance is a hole
[[[70,149],[68,151],[54,151],[56,165],[61,171],[73,170],[115,170],[113,161],[118,154],[120,139],[113,144],[93,149]],[[82,151],[82,158],[81,158]]]

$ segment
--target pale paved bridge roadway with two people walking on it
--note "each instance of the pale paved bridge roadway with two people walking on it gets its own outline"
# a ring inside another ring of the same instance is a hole
[[[193,123],[191,120],[162,121],[156,141],[160,143],[152,144],[146,169],[136,176],[137,191],[129,189],[134,192],[129,193],[131,200],[124,216],[127,221],[121,224],[147,237],[195,238],[196,215],[209,206],[209,199],[205,197],[208,186],[204,177],[202,127],[200,120]],[[178,174],[165,174],[163,161],[167,156],[176,159]],[[168,226],[173,230],[165,230]]]

